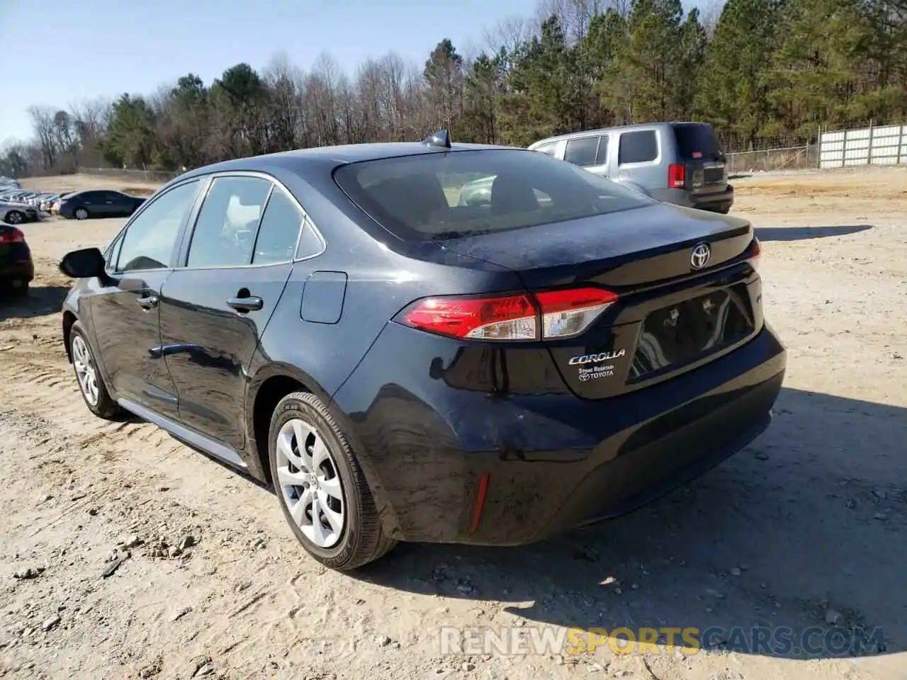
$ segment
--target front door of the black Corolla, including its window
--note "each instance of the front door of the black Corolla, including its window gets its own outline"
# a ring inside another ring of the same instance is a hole
[[[156,197],[123,230],[107,280],[87,297],[97,355],[118,399],[178,417],[176,390],[161,355],[161,287],[171,276],[183,223],[200,182]]]

